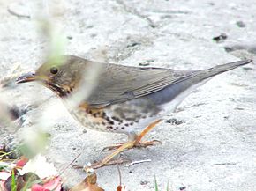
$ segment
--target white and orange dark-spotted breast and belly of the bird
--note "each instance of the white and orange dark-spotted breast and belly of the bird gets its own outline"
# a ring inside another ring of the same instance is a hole
[[[148,99],[132,99],[102,108],[87,104],[70,110],[72,116],[88,129],[129,134],[144,129],[158,119],[160,109]]]

